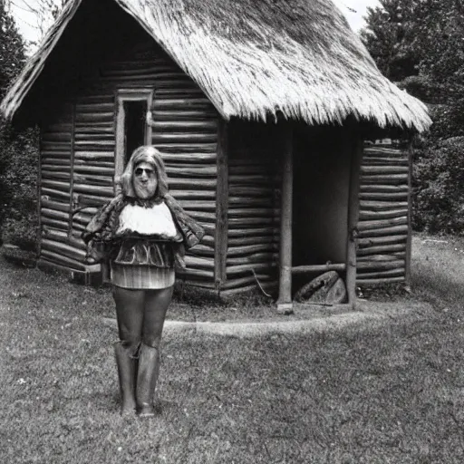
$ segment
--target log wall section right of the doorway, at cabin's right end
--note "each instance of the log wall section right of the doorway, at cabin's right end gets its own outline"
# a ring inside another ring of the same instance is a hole
[[[404,282],[410,241],[409,151],[366,144],[361,166],[357,285]]]

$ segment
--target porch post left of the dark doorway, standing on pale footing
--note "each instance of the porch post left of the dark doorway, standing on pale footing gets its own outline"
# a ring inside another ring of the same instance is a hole
[[[285,145],[282,164],[280,213],[280,278],[277,312],[292,314],[292,220],[294,198],[294,134],[290,123],[285,124]]]

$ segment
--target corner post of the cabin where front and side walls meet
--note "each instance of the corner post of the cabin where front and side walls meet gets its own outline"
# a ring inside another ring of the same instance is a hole
[[[218,116],[218,182],[216,186],[216,230],[214,250],[214,280],[218,292],[227,280],[228,231],[228,127]]]

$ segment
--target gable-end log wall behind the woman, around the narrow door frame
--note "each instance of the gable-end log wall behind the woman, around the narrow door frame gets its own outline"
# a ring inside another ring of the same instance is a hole
[[[218,112],[151,40],[82,78],[73,104],[43,128],[42,256],[77,270],[92,265],[80,236],[114,195],[115,95],[138,88],[154,90],[152,143],[164,154],[171,193],[207,230],[179,278],[214,288]]]

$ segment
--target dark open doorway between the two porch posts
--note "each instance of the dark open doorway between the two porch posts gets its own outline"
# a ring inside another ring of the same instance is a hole
[[[342,128],[295,131],[293,266],[346,261],[350,148]],[[320,274],[295,275],[294,290]]]

